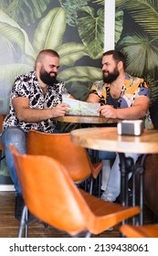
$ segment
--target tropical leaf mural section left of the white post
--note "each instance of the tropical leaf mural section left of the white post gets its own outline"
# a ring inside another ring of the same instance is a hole
[[[0,0],[0,112],[8,111],[17,75],[34,69],[40,50],[60,56],[58,80],[85,100],[100,80],[104,40],[104,2],[98,0]],[[68,132],[70,127],[62,127]],[[8,176],[2,161],[0,176]]]

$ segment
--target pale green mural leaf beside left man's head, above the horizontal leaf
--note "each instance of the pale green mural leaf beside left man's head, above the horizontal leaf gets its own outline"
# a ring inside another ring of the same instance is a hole
[[[77,60],[84,56],[88,56],[88,54],[85,52],[84,45],[75,42],[62,44],[56,48],[56,50],[58,51],[60,57],[59,63],[62,66],[72,66]]]

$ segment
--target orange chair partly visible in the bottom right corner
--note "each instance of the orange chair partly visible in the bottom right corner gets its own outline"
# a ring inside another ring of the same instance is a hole
[[[127,238],[158,238],[158,224],[142,226],[125,224],[120,230]]]

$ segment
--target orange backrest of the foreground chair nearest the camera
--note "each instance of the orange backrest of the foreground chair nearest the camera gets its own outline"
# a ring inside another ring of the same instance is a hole
[[[86,229],[84,213],[89,213],[90,218],[90,209],[66,168],[48,156],[21,155],[13,144],[10,150],[30,212],[71,235]]]

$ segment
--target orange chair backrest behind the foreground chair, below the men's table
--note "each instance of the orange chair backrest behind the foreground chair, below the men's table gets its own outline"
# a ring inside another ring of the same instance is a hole
[[[68,169],[73,181],[78,183],[93,172],[90,156],[84,147],[73,144],[70,133],[28,132],[27,154],[47,155],[57,159]]]

